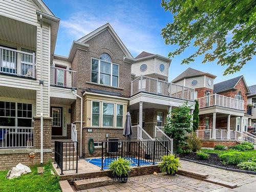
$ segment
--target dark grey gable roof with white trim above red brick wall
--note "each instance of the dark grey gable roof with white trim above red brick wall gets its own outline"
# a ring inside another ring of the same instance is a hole
[[[221,93],[224,91],[236,89],[235,87],[240,79],[243,79],[247,92],[249,93],[249,89],[246,85],[243,75],[214,84],[214,93]]]

